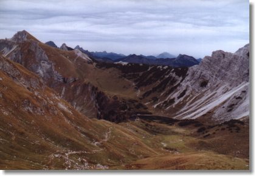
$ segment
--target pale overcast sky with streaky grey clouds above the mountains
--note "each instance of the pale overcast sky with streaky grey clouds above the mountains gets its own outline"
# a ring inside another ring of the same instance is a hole
[[[123,54],[235,52],[249,43],[249,0],[0,0],[0,38]]]

